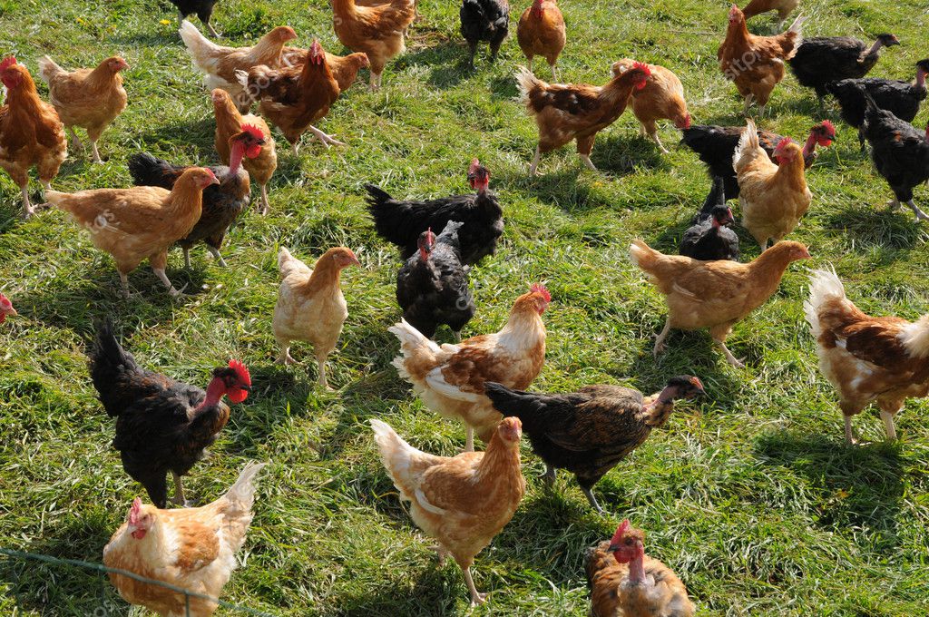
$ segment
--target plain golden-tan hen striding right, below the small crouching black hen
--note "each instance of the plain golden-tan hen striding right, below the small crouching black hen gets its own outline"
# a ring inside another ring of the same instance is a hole
[[[668,305],[668,318],[655,341],[654,354],[657,356],[664,348],[664,339],[672,328],[709,328],[713,341],[726,354],[726,361],[739,368],[744,364],[726,348],[732,326],[778,290],[780,278],[791,262],[810,258],[803,244],[791,241],[775,244],[747,264],[662,255],[641,240],[632,243],[629,253]]]

